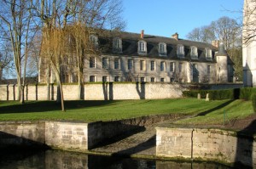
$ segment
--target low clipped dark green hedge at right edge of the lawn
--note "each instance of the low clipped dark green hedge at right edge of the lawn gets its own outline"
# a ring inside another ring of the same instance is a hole
[[[209,99],[221,100],[221,99],[245,99],[252,100],[252,94],[256,93],[256,88],[235,88],[225,90],[191,90],[184,91],[183,96],[189,98],[197,98],[197,94],[201,94],[201,98],[206,98],[209,93]]]

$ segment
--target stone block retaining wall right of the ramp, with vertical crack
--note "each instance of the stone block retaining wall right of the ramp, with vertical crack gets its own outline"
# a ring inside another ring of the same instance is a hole
[[[256,167],[253,138],[220,129],[158,127],[156,155],[188,160],[241,163]]]

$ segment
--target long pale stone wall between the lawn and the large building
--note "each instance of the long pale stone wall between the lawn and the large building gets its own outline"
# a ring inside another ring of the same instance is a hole
[[[0,100],[17,99],[17,87],[0,85]],[[65,100],[77,100],[77,85],[63,85]],[[119,99],[173,99],[181,98],[183,87],[171,83],[87,83],[84,85],[85,100],[119,100]],[[25,87],[25,100],[56,99],[57,87],[50,85],[28,85]]]

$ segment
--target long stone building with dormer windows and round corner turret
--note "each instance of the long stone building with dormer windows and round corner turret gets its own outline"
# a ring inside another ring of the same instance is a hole
[[[233,82],[234,64],[217,41],[193,42],[179,39],[177,33],[158,37],[144,31],[119,32],[108,40],[92,34],[90,41],[106,48],[100,54],[84,57],[84,82]],[[41,83],[46,82],[45,72],[40,66]],[[54,75],[50,79],[55,82]],[[77,73],[63,64],[61,81],[77,82]]]

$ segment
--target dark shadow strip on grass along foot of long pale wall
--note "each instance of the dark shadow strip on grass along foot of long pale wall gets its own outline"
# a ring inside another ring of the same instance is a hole
[[[99,107],[108,104],[117,103],[119,101],[84,101],[73,100],[65,101],[66,110],[86,109],[90,107]],[[61,104],[57,104],[55,101],[28,101],[26,104],[12,104],[1,106],[0,115],[8,113],[32,113],[32,112],[46,112],[46,111],[61,111]]]

